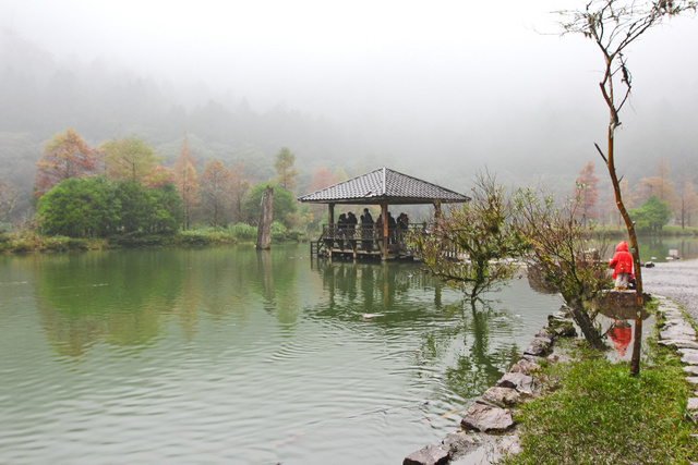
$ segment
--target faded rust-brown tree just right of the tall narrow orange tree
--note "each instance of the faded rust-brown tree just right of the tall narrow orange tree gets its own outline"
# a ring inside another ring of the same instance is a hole
[[[210,224],[217,227],[229,218],[232,198],[231,176],[219,160],[213,159],[204,164],[200,176],[198,194],[202,209],[207,213]]]

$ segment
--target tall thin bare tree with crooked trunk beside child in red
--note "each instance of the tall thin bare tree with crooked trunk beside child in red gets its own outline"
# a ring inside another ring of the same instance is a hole
[[[603,158],[611,176],[615,200],[628,230],[630,247],[637,279],[637,313],[635,318],[635,342],[630,360],[630,372],[640,371],[640,347],[642,334],[642,274],[637,234],[633,220],[628,215],[621,184],[615,169],[615,130],[621,125],[619,112],[627,103],[633,88],[631,74],[627,66],[625,51],[650,27],[661,24],[664,19],[676,16],[687,11],[696,11],[698,2],[687,0],[592,0],[585,10],[559,11],[563,16],[561,25],[563,35],[581,34],[593,40],[603,54],[603,77],[599,83],[601,95],[609,108],[610,121],[607,130],[607,147],[604,152],[598,144],[597,150]],[[616,87],[617,85],[617,87]]]

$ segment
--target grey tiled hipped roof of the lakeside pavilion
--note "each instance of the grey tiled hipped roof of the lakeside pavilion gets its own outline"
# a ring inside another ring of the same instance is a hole
[[[314,193],[298,197],[300,201],[316,204],[377,204],[387,200],[392,204],[444,204],[470,200],[469,197],[408,176],[387,168],[344,181]]]

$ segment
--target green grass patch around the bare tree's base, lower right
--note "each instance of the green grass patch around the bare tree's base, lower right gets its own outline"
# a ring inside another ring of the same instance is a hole
[[[638,377],[598,354],[544,367],[551,391],[515,411],[522,452],[505,464],[688,464],[698,432],[676,355],[652,347]]]

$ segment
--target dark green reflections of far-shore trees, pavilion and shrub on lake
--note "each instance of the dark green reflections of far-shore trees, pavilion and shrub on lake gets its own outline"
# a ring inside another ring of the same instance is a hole
[[[470,305],[418,265],[291,258],[253,249],[52,256],[37,268],[41,326],[57,353],[80,359],[97,342],[143,351],[169,321],[189,342],[203,316],[244,322],[261,306],[287,336],[310,318],[370,328],[377,342],[400,338],[413,348],[396,356],[410,363],[414,382],[437,377],[464,399],[495,382],[520,350],[512,311]]]

